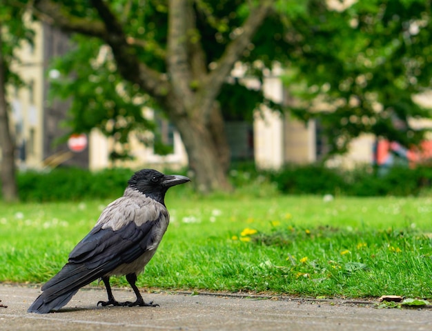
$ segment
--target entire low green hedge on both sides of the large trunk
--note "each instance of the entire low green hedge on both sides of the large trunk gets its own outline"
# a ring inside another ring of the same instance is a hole
[[[90,172],[56,168],[50,172],[18,174],[21,201],[115,199],[123,194],[133,170],[115,168]],[[173,173],[164,170],[166,173]],[[186,174],[184,171],[175,173]],[[189,175],[190,174],[186,174]],[[333,194],[357,197],[432,195],[432,167],[393,167],[378,172],[371,166],[341,170],[321,164],[286,165],[281,170],[258,170],[254,163],[235,163],[228,177],[237,192],[267,197],[272,194]],[[193,178],[193,177],[192,177]],[[193,194],[193,185],[176,194]],[[187,191],[187,192],[186,192]],[[171,194],[173,195],[173,194]]]

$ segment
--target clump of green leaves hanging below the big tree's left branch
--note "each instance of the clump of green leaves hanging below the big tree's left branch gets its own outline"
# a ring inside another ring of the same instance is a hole
[[[111,159],[127,158],[130,132],[142,143],[151,141],[147,131],[155,130],[155,123],[144,116],[143,108],[154,105],[137,86],[120,77],[110,50],[99,39],[76,36],[72,42],[75,48],[52,64],[51,70],[60,76],[50,79],[51,99],[73,95],[66,136],[98,128],[125,148],[123,154],[112,151]]]

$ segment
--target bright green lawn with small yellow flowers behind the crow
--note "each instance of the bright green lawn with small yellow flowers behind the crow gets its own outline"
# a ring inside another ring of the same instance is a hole
[[[186,195],[139,286],[432,298],[430,198]],[[47,281],[109,202],[0,203],[0,281]]]

